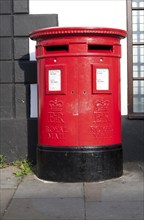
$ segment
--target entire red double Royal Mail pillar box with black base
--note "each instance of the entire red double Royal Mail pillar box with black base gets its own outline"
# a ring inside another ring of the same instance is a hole
[[[120,39],[112,28],[46,28],[37,41],[37,175],[98,181],[123,172]]]

